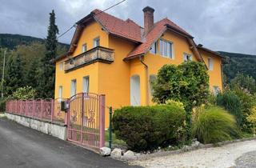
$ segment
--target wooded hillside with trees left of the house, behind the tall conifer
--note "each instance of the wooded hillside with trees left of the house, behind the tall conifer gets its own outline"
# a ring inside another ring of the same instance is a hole
[[[46,65],[42,58],[46,54],[46,40],[18,34],[0,34],[0,77],[4,51],[6,50],[4,96],[11,95],[22,86],[31,86],[40,93],[38,87],[42,80],[39,74]],[[64,54],[69,45],[58,43],[57,54]],[[54,65],[53,65],[54,66]],[[2,89],[2,88],[1,88]],[[54,90],[52,90],[54,91]]]

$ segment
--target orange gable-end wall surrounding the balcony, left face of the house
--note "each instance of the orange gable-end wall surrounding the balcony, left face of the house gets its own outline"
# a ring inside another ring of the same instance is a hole
[[[109,36],[106,31],[102,30],[102,27],[97,22],[91,22],[88,26],[82,31],[82,35],[78,41],[78,46],[74,50],[74,53],[71,56],[76,56],[82,53],[82,45],[86,43],[87,50],[94,48],[93,41],[94,38],[100,38],[100,46],[108,47],[109,46]],[[94,62],[88,66],[83,66],[77,70],[72,70],[68,73],[65,73],[64,66],[63,70],[59,69],[59,64],[65,62],[66,59],[62,59],[56,62],[55,69],[55,93],[54,98],[58,98],[58,86],[62,86],[62,98],[70,98],[70,88],[71,80],[77,80],[77,93],[82,92],[82,78],[85,76],[90,76],[89,79],[89,92],[98,93],[98,65],[100,62]]]

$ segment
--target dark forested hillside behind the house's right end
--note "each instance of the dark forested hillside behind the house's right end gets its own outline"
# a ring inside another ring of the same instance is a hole
[[[249,75],[256,79],[256,55],[218,52],[226,57],[223,73],[226,76],[227,82],[230,82],[238,73]]]

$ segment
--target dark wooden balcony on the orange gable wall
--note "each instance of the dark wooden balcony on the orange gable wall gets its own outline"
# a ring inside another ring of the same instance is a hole
[[[104,62],[109,64],[114,62],[114,50],[102,46],[94,47],[74,58],[68,59],[65,62],[64,70],[65,72],[69,72],[94,62]]]

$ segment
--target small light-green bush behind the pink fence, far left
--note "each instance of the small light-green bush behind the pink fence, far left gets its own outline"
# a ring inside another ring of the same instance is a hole
[[[12,95],[12,98],[17,100],[27,100],[35,97],[36,90],[34,90],[31,86],[20,87]]]

